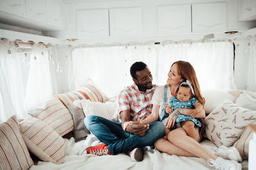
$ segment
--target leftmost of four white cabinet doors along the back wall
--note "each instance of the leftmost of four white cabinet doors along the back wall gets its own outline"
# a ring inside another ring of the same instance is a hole
[[[77,36],[109,36],[108,9],[77,11]]]

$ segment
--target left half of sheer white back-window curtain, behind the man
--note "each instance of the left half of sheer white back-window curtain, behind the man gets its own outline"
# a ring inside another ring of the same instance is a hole
[[[147,45],[80,46],[72,51],[74,87],[88,79],[100,86],[109,97],[114,97],[125,86],[131,85],[131,64],[143,61],[156,73],[157,49]],[[156,74],[153,74],[156,77]]]

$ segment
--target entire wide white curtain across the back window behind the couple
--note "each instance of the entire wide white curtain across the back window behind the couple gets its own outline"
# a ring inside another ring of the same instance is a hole
[[[164,85],[170,66],[186,60],[195,68],[201,89],[234,89],[233,46],[230,41],[168,41],[116,46],[77,46],[72,51],[75,87],[92,79],[108,96],[132,84],[131,64],[145,62],[153,83]]]

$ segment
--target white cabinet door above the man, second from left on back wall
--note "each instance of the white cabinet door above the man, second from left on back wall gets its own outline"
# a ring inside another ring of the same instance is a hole
[[[142,34],[141,8],[113,8],[109,10],[111,36]]]

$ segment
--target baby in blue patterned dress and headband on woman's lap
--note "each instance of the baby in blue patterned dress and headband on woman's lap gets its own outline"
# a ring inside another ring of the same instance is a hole
[[[168,106],[166,106],[166,113],[172,113],[177,108],[195,109],[194,105],[198,100],[194,95],[195,92],[188,80],[180,83],[177,96],[173,96],[172,99],[170,99]],[[199,127],[201,127],[202,124],[198,118],[189,115],[179,115],[176,119],[176,125],[178,127],[180,125],[186,131],[188,136],[195,139],[196,134],[199,133]]]

